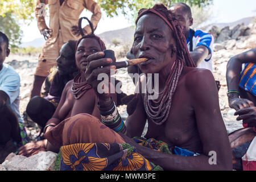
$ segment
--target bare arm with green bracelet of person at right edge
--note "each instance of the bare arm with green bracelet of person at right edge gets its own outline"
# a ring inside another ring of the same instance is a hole
[[[256,48],[250,51],[243,52],[232,57],[226,67],[226,82],[228,90],[239,90],[239,81],[243,63],[256,63]],[[254,106],[253,102],[240,99],[237,93],[228,94],[229,106],[233,109],[242,109],[245,107]]]

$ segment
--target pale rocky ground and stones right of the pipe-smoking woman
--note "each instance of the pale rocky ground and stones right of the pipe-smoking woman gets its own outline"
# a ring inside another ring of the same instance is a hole
[[[230,109],[228,104],[228,91],[226,85],[226,65],[231,57],[239,53],[248,51],[256,47],[256,23],[248,26],[238,24],[234,28],[225,27],[220,31],[217,27],[212,27],[211,33],[217,43],[214,43],[213,53],[213,76],[220,81],[221,89],[218,92],[222,118],[224,119],[228,133],[242,127],[241,121],[236,121],[234,109]]]

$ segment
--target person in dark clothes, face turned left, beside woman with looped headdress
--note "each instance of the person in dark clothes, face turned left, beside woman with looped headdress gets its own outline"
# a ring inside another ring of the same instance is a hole
[[[42,130],[55,112],[65,85],[77,74],[76,43],[75,40],[69,40],[61,47],[60,56],[56,59],[57,68],[46,78],[43,97],[35,96],[28,102],[26,113]]]

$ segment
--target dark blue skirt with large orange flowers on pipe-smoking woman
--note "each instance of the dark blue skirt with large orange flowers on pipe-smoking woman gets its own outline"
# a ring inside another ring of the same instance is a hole
[[[166,143],[133,138],[141,146],[171,154]],[[162,171],[127,143],[76,143],[62,146],[55,160],[56,171]]]

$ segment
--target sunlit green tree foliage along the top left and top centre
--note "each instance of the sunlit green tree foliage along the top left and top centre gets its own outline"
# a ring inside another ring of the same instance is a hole
[[[101,9],[110,16],[118,14],[127,15],[127,18],[134,19],[137,12],[142,8],[149,8],[155,3],[163,3],[170,7],[172,3],[185,2],[192,6],[207,6],[213,0],[94,0],[100,5]],[[29,23],[35,18],[36,0],[0,0],[0,30],[5,32],[10,38],[10,44],[13,47],[20,43],[22,31],[15,19],[22,19]]]

